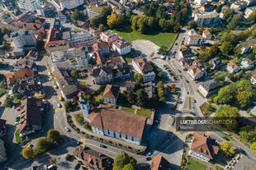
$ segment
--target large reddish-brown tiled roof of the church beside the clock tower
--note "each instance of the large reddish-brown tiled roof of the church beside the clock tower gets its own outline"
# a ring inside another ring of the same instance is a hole
[[[100,105],[88,115],[91,126],[142,139],[146,117]]]

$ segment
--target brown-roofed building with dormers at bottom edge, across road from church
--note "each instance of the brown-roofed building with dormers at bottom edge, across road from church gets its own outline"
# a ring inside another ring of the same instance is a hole
[[[105,154],[88,148],[87,146],[78,146],[73,150],[73,156],[82,161],[87,168],[111,170],[113,159]]]

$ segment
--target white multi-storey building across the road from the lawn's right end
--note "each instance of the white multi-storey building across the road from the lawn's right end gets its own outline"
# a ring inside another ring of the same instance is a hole
[[[203,38],[196,30],[189,30],[185,37],[185,44],[192,46],[201,46],[205,44],[206,39]]]

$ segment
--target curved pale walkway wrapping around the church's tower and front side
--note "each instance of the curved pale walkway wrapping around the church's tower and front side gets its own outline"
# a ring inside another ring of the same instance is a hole
[[[72,117],[73,125],[77,126],[80,129],[80,131],[85,132],[89,136],[95,136],[95,137],[98,137],[98,138],[102,138],[104,140],[111,140],[112,142],[115,142],[117,144],[130,146],[131,148],[134,148],[134,149],[140,149],[140,150],[145,149],[146,146],[131,144],[131,143],[126,142],[124,140],[118,140],[116,138],[112,138],[112,137],[109,137],[109,136],[101,136],[101,135],[98,135],[97,133],[93,133],[92,131],[88,131],[88,130],[84,129],[83,126],[79,125],[78,122],[75,120],[75,115],[78,114],[78,113],[81,113],[81,112],[77,111],[77,112],[74,112],[74,113],[69,113],[69,115]]]

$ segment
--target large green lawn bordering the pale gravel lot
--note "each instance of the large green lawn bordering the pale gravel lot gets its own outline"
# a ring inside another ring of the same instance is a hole
[[[114,32],[129,42],[136,39],[147,39],[159,47],[166,46],[168,49],[172,47],[178,35],[174,33],[140,34],[139,32],[131,30],[130,28],[114,30]]]

